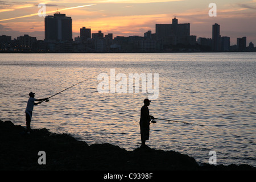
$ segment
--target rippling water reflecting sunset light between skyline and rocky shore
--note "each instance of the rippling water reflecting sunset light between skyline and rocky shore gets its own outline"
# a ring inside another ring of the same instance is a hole
[[[147,93],[99,93],[100,73],[159,74],[159,96],[149,106],[155,149],[174,150],[208,163],[256,167],[256,52],[0,54],[0,119],[26,126],[28,93],[52,96],[34,107],[32,129],[69,133],[88,144],[126,150],[141,144],[139,117]],[[118,81],[117,81],[118,82]],[[127,83],[128,88],[128,83]]]

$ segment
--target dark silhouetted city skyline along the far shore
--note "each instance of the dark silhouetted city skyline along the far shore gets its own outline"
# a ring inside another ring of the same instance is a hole
[[[0,36],[1,52],[236,52],[256,51],[254,44],[246,46],[246,36],[237,38],[230,46],[230,37],[220,35],[220,25],[212,26],[212,39],[190,34],[190,23],[155,24],[156,32],[144,32],[144,36],[116,36],[102,31],[92,33],[90,28],[80,28],[80,36],[72,40],[72,18],[57,11],[45,17],[45,39],[25,34],[17,39]]]

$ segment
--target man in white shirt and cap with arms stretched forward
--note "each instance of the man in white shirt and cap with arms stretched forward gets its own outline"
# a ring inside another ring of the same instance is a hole
[[[27,108],[26,108],[26,126],[27,126],[27,132],[31,131],[30,128],[30,123],[31,123],[31,118],[32,118],[32,111],[34,109],[34,105],[38,105],[41,104],[43,101],[48,100],[48,98],[42,98],[42,99],[35,99],[35,93],[30,92],[28,94],[30,96],[30,98],[27,101]],[[35,103],[35,101],[39,101],[37,103]]]

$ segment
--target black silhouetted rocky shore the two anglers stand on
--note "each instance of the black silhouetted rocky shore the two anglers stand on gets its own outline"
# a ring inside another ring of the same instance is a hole
[[[175,151],[136,148],[126,151],[112,144],[92,144],[68,134],[35,129],[30,134],[22,126],[0,120],[1,171],[256,171],[247,164],[199,165],[195,159]],[[46,152],[40,165],[39,151]]]

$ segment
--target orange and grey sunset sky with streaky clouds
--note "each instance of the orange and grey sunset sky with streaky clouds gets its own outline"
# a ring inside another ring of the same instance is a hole
[[[210,3],[216,4],[216,16],[209,16]],[[256,0],[0,0],[0,35],[16,39],[20,35],[44,39],[44,16],[38,11],[46,5],[46,15],[57,10],[72,17],[73,38],[80,28],[101,30],[104,35],[143,36],[155,24],[190,23],[191,35],[212,38],[212,25],[220,24],[220,35],[229,36],[231,45],[247,37],[256,46]]]

